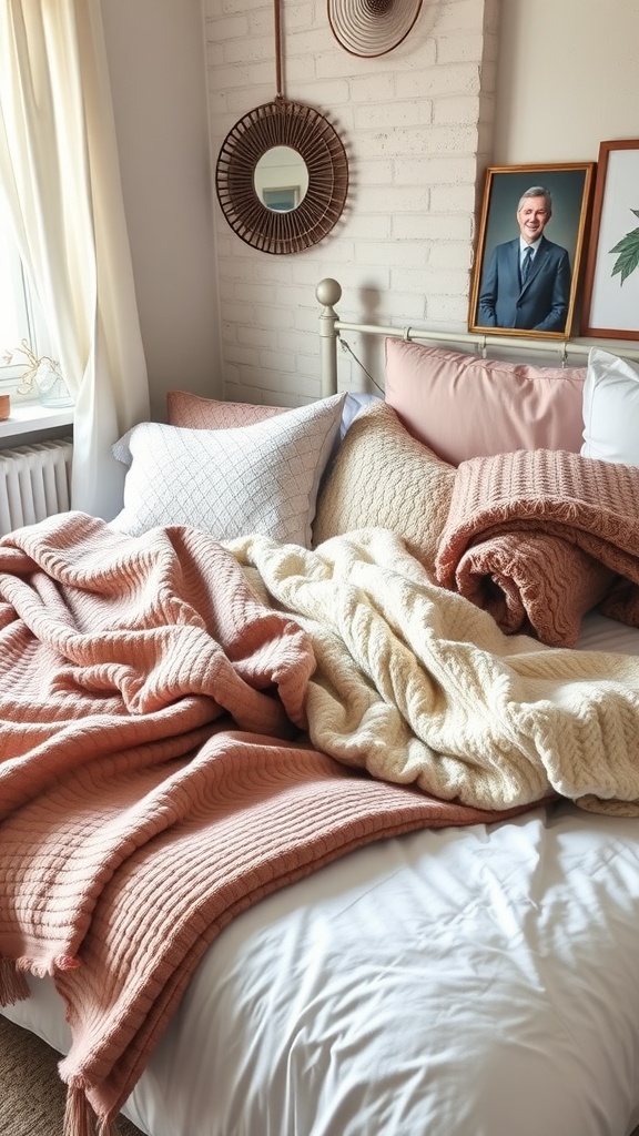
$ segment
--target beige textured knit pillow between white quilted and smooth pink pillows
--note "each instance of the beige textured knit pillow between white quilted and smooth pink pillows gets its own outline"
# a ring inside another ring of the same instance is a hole
[[[356,528],[390,528],[433,571],[455,467],[417,442],[385,402],[350,426],[320,492],[313,542]]]

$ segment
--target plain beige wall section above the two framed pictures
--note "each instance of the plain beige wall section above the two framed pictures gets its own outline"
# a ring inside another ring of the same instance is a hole
[[[639,137],[638,0],[501,0],[492,165]]]

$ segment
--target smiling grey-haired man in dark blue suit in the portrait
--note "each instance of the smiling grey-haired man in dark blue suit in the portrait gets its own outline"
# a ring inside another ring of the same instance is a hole
[[[565,332],[571,291],[566,249],[543,236],[553,216],[553,198],[533,185],[520,199],[520,236],[495,249],[481,283],[478,324]]]

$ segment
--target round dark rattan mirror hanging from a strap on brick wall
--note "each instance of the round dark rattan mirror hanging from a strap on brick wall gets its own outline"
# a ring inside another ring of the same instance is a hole
[[[300,252],[340,219],[348,160],[320,111],[284,98],[280,0],[274,15],[275,99],[249,111],[226,135],[216,189],[224,217],[242,241],[262,252]]]

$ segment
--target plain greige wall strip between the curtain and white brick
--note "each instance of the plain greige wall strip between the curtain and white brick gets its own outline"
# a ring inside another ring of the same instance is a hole
[[[218,301],[200,0],[102,0],[151,410],[219,396]]]

